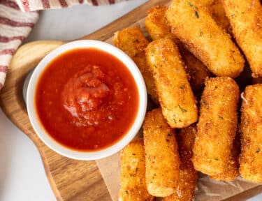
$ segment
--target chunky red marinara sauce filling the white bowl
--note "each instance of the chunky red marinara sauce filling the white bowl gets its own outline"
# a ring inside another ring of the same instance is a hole
[[[59,55],[36,86],[35,107],[43,128],[78,151],[96,151],[120,140],[135,121],[138,105],[129,69],[96,48]]]

